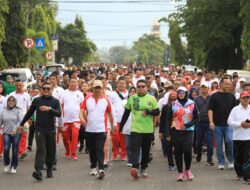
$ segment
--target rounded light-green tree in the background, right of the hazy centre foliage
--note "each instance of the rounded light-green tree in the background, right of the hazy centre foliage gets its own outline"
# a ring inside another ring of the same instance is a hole
[[[133,50],[138,53],[137,62],[144,64],[163,64],[167,44],[159,37],[144,34],[134,42]]]

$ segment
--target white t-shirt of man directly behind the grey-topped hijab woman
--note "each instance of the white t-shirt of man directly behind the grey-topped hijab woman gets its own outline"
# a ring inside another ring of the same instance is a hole
[[[9,96],[14,96],[16,98],[17,107],[21,108],[21,110],[23,111],[23,114],[25,115],[31,104],[30,95],[27,92],[23,92],[23,93],[12,92],[9,94]]]

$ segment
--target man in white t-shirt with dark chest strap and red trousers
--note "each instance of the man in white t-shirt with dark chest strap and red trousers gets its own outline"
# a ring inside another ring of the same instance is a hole
[[[128,91],[126,90],[126,82],[124,77],[120,77],[117,83],[116,91],[109,94],[109,100],[113,105],[115,117],[117,121],[116,129],[112,135],[112,160],[117,160],[119,149],[121,149],[120,159],[126,160],[126,139],[125,135],[119,132],[119,127],[122,119],[123,112],[125,111],[125,103],[128,98]]]

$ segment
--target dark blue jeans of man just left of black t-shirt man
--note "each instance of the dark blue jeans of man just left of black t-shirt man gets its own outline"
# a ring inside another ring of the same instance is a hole
[[[202,156],[202,142],[207,138],[207,161],[213,160],[213,130],[210,129],[209,123],[198,123],[196,127],[196,151],[197,156]]]

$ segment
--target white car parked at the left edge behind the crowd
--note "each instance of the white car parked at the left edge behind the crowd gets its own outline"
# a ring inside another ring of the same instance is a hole
[[[34,76],[29,68],[5,69],[1,72],[0,80],[6,81],[6,77],[8,75],[13,76],[15,80],[20,79],[21,81],[23,81],[25,90],[36,83]]]

